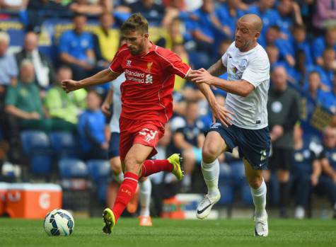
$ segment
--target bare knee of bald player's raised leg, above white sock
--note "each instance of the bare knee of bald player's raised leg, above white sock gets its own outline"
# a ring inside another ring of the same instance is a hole
[[[202,159],[205,162],[212,162],[221,153],[226,151],[227,148],[228,145],[221,137],[221,134],[219,134],[219,132],[208,132],[202,148]]]

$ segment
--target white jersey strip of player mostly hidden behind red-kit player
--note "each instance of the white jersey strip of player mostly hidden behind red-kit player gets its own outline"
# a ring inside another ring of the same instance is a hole
[[[113,90],[113,113],[112,118],[110,121],[110,132],[117,132],[120,133],[119,128],[119,118],[120,114],[122,113],[122,99],[121,99],[121,92],[120,92],[120,85],[126,81],[124,73],[120,74],[114,81],[111,82],[111,88]]]

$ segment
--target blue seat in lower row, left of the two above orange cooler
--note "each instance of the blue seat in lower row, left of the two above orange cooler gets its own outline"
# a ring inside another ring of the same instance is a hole
[[[61,178],[86,178],[88,167],[80,159],[61,159],[58,163]]]

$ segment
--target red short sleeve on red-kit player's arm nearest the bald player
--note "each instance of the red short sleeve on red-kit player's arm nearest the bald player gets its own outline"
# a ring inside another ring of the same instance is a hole
[[[166,56],[159,54],[164,60],[166,60],[166,68],[172,74],[185,78],[190,71],[190,66],[185,64],[180,57],[174,52],[167,52]]]

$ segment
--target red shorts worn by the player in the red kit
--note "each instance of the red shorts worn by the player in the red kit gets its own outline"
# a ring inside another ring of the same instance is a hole
[[[119,125],[120,160],[124,161],[127,152],[136,143],[153,147],[149,158],[158,153],[156,151],[156,144],[158,143],[158,139],[165,134],[164,125],[161,122],[129,120],[128,118],[120,117]]]

